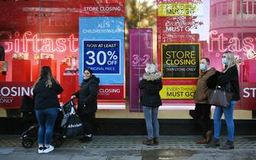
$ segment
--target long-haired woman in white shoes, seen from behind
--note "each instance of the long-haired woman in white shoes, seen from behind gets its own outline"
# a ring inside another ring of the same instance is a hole
[[[63,88],[53,78],[50,67],[43,66],[33,86],[34,110],[39,124],[38,153],[48,153],[54,149],[50,146],[50,141],[60,107],[57,95],[62,91]]]

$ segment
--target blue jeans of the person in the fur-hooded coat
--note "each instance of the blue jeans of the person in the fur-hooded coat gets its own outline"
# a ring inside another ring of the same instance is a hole
[[[159,123],[157,120],[158,107],[143,106],[144,117],[147,126],[147,139],[159,137]]]

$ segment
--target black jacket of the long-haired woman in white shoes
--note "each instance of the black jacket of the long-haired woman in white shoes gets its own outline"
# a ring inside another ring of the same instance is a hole
[[[57,97],[61,94],[63,88],[54,79],[51,88],[46,87],[47,78],[41,78],[33,88],[34,109],[44,110],[50,107],[60,107]]]

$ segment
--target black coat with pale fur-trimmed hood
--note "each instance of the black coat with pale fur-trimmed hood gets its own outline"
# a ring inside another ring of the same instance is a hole
[[[159,91],[163,88],[162,74],[155,72],[144,73],[139,83],[141,89],[141,105],[147,107],[159,107],[162,105]]]

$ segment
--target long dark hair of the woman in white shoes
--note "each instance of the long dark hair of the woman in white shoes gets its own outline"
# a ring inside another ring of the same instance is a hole
[[[37,82],[39,82],[42,78],[47,78],[47,82],[45,82],[45,86],[51,88],[51,86],[53,85],[52,80],[54,80],[54,78],[49,66],[42,67],[39,78],[37,79]],[[34,83],[34,86],[37,84],[37,82]]]

